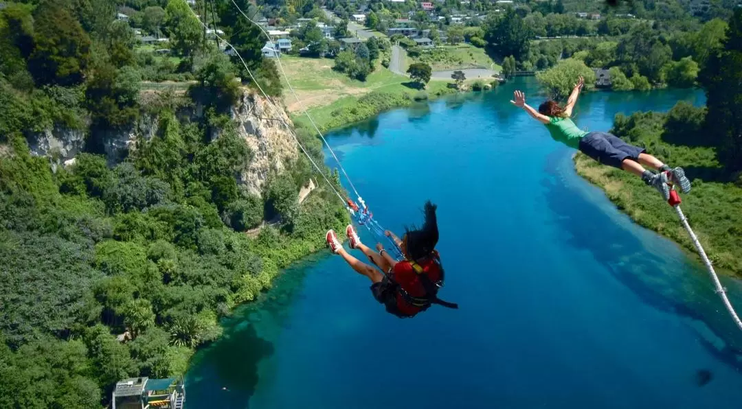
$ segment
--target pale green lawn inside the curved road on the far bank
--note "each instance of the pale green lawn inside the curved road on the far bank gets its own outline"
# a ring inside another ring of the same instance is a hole
[[[471,44],[435,47],[414,59],[407,56],[404,67],[406,68],[409,66],[408,64],[418,61],[429,64],[433,71],[464,68],[487,68],[499,71],[502,68],[495,64],[490,56],[487,56],[483,48],[477,48]]]

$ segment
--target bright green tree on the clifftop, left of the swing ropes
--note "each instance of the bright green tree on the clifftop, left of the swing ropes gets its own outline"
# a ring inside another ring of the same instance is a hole
[[[165,28],[172,50],[180,56],[191,56],[201,44],[203,29],[185,1],[168,0]]]

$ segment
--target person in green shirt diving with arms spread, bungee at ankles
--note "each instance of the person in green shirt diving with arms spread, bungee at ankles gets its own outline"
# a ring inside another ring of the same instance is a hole
[[[560,107],[557,102],[550,99],[539,105],[539,110],[536,111],[525,103],[525,95],[518,90],[515,91],[514,100],[510,102],[516,107],[522,107],[534,119],[544,124],[555,141],[580,150],[597,162],[634,173],[646,184],[659,190],[665,200],[670,199],[670,183],[679,185],[683,193],[688,193],[691,190],[691,183],[682,167],[671,169],[667,164],[646,153],[642,147],[627,144],[610,133],[585,132],[572,122],[570,118],[572,109],[583,84],[585,82],[580,77],[565,107]],[[660,173],[646,170],[644,166],[659,170]]]

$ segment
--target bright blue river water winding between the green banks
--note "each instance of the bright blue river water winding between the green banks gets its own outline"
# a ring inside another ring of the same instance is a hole
[[[516,86],[540,101],[519,79],[329,137],[384,227],[401,234],[425,199],[439,204],[440,296],[459,310],[397,319],[367,279],[318,253],[223,322],[191,362],[188,408],[741,405],[742,333],[704,270],[580,179],[573,151],[509,104]],[[589,93],[576,122],[608,130],[616,113],[680,99],[704,102],[697,90]],[[742,305],[742,285],[724,282]]]

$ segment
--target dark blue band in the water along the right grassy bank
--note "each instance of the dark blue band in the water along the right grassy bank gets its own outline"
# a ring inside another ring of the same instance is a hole
[[[563,151],[558,151],[550,158],[552,160],[547,161],[545,172],[553,177],[542,179],[542,185],[548,192],[546,203],[549,210],[557,215],[554,223],[563,232],[560,241],[580,250],[588,250],[615,279],[626,285],[646,305],[703,322],[718,339],[723,340],[724,345],[715,345],[704,336],[699,336],[700,345],[720,362],[742,370],[742,344],[733,322],[725,311],[709,306],[709,300],[717,297],[712,286],[698,285],[697,278],[705,278],[705,273],[687,271],[678,275],[667,271],[665,260],[647,251],[643,242],[631,231],[617,224],[600,207],[583,199],[581,193],[568,186],[557,169],[557,164],[564,162],[555,159],[563,154]],[[688,267],[684,269],[688,270]]]

